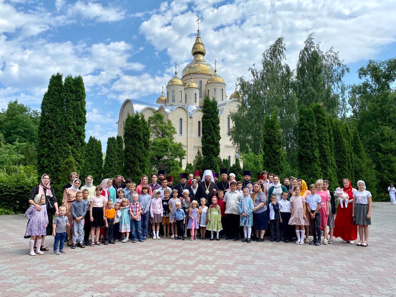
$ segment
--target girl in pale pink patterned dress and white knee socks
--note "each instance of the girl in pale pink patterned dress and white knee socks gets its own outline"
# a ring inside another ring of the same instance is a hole
[[[305,202],[305,197],[300,196],[300,187],[295,186],[293,196],[290,198],[291,218],[289,225],[295,225],[296,227],[296,244],[304,244],[305,226],[309,225],[305,215]]]

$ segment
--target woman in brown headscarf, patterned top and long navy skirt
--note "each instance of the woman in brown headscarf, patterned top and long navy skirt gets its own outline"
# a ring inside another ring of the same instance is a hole
[[[261,190],[261,185],[258,182],[253,184],[253,192],[250,194],[253,200],[253,222],[256,231],[256,237],[253,240],[257,242],[264,241],[265,230],[268,228],[267,218],[267,197]]]

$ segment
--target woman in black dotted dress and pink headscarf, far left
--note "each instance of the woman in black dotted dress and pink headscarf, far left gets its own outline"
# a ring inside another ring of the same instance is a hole
[[[53,216],[58,216],[58,202],[55,196],[55,191],[52,190],[51,179],[48,174],[43,174],[41,177],[40,185],[34,186],[29,194],[29,203],[36,208],[36,210],[41,211],[40,204],[34,202],[34,197],[37,194],[44,194],[46,196],[46,205],[47,205],[47,215],[48,215],[48,225],[46,228],[46,235],[52,235],[52,218]],[[28,238],[30,236],[27,236]],[[42,236],[40,251],[48,251],[49,248],[44,246],[44,240],[46,236]],[[36,247],[35,247],[36,249]]]

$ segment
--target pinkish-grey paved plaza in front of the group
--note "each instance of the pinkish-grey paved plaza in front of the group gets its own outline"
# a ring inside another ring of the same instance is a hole
[[[373,204],[366,248],[149,239],[35,257],[27,218],[2,215],[0,296],[395,296],[395,215],[396,206]]]

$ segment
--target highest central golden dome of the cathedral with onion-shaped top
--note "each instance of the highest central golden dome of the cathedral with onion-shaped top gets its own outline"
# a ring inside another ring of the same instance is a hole
[[[215,70],[213,69],[213,67],[211,67],[210,64],[206,63],[204,59],[204,56],[206,54],[206,49],[204,44],[202,43],[201,37],[199,35],[199,31],[195,43],[192,46],[191,53],[194,56],[194,59],[192,59],[191,63],[187,64],[187,66],[184,67],[181,75],[182,77],[191,73],[192,74],[203,73],[210,75],[215,74]]]

